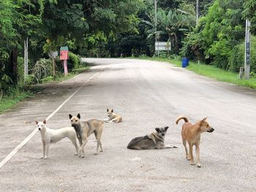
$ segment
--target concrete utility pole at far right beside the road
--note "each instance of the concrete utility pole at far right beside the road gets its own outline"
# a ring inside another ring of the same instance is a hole
[[[250,31],[249,28],[251,23],[246,19],[245,25],[245,55],[244,55],[244,79],[249,80],[249,72],[250,72]]]

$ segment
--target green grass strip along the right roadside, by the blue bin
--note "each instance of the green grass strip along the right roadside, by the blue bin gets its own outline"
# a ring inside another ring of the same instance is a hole
[[[140,58],[151,61],[164,61],[181,67],[181,59],[177,60],[168,58],[150,58],[146,56]],[[186,69],[206,77],[211,77],[218,81],[230,82],[235,85],[240,85],[247,88],[256,88],[256,77],[251,77],[249,80],[239,80],[238,73],[227,72],[225,70],[206,64],[196,64],[192,61],[189,61],[189,66],[187,66]]]

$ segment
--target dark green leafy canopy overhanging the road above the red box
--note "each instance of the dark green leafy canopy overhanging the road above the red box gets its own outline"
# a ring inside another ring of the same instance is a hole
[[[86,54],[85,49],[99,50],[118,34],[138,33],[137,12],[142,5],[140,0],[49,2],[45,4],[42,25],[45,37],[50,39],[45,52],[72,42],[73,51]]]

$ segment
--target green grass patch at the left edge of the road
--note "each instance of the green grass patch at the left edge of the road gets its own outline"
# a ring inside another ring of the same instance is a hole
[[[20,88],[10,88],[8,91],[4,92],[2,98],[0,99],[0,114],[8,109],[10,109],[18,102],[23,99],[34,96],[31,91],[23,91]]]

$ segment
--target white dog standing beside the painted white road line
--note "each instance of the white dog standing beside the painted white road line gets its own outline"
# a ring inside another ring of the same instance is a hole
[[[75,155],[78,155],[77,135],[73,127],[51,129],[46,126],[46,120],[41,122],[38,122],[36,120],[35,122],[42,136],[42,151],[43,151],[42,158],[44,159],[48,158],[50,143],[59,142],[59,140],[65,137],[68,137],[72,141],[76,150]]]

